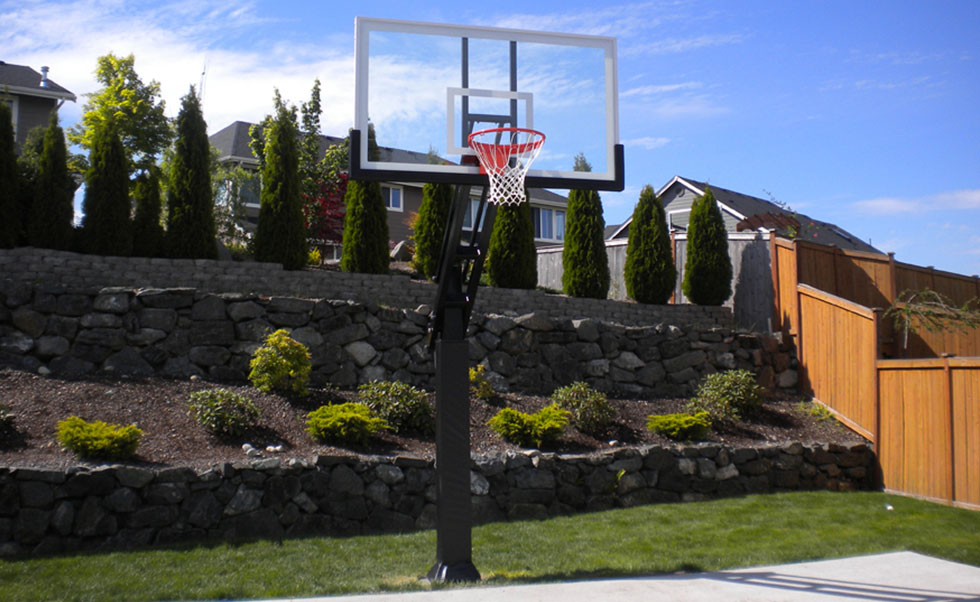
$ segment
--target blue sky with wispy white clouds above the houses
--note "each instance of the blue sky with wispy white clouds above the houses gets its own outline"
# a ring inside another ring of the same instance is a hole
[[[324,84],[324,132],[353,123],[355,16],[614,36],[626,190],[674,175],[775,198],[900,261],[980,273],[980,2],[219,2],[0,0],[0,60],[81,95],[134,53],[168,113],[201,82],[210,130]],[[62,109],[78,119],[84,99]]]

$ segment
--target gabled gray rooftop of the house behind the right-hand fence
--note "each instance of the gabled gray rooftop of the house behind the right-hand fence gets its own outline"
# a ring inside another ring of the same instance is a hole
[[[793,222],[796,222],[799,224],[799,228],[797,229],[798,236],[810,242],[833,245],[841,249],[853,251],[881,252],[839,226],[813,219],[802,213],[796,213],[792,209],[772,201],[735,192],[734,190],[728,190],[714,184],[674,176],[670,182],[657,192],[657,196],[664,196],[673,186],[683,186],[697,195],[704,194],[705,188],[710,187],[711,192],[714,194],[715,202],[718,203],[723,211],[738,220],[739,228],[734,231],[744,231],[746,228],[757,231],[776,230],[777,233],[788,236],[791,234]],[[632,218],[617,227],[608,238],[624,238],[627,236],[630,221],[632,221]],[[674,231],[684,230],[683,227],[676,225],[673,229]]]

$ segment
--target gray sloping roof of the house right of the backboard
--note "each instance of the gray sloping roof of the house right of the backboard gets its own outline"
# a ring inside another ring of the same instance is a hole
[[[767,201],[747,194],[742,194],[741,192],[735,192],[734,190],[728,190],[727,188],[722,188],[721,186],[716,186],[715,184],[707,184],[698,180],[692,180],[691,178],[676,176],[663,188],[661,188],[657,195],[663,195],[667,189],[674,184],[686,186],[696,194],[703,194],[704,189],[706,187],[710,187],[717,203],[728,207],[735,213],[741,214],[743,218],[749,218],[753,215],[762,215],[766,213],[785,215],[795,218],[801,225],[799,233],[801,239],[823,245],[833,245],[840,249],[851,251],[881,253],[881,251],[875,247],[864,242],[840,226],[813,219],[802,213],[797,213],[787,206],[779,205],[772,201]],[[615,235],[615,238],[623,238],[627,236],[629,232],[629,222],[631,220],[632,218],[627,220],[614,231],[613,234]],[[777,230],[777,233],[782,234],[783,236],[787,236],[789,234],[789,232],[785,231],[784,229]],[[612,236],[613,235],[609,235],[609,237]]]

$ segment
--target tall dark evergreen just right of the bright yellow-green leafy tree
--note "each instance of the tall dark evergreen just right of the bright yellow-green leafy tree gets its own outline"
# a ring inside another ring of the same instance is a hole
[[[171,257],[218,258],[211,144],[193,86],[181,99],[177,114],[177,141],[167,186],[167,247]]]

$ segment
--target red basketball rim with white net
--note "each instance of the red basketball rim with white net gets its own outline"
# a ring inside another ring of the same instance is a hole
[[[469,135],[470,148],[480,159],[480,173],[490,178],[489,202],[519,204],[526,200],[524,176],[542,144],[544,134],[526,128],[490,128]]]

